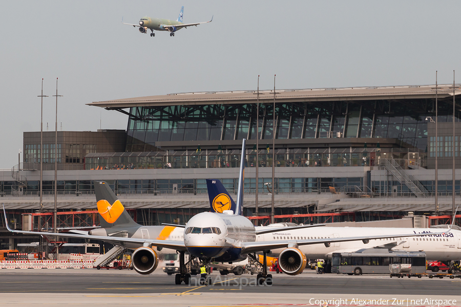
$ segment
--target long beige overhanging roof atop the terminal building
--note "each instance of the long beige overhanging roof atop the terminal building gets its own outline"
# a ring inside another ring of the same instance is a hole
[[[455,85],[455,95],[461,94],[461,84]],[[259,101],[267,103],[274,100],[274,91],[260,91]],[[453,84],[439,84],[439,98],[453,95]],[[435,85],[405,85],[405,86],[372,86],[344,87],[329,89],[276,90],[277,102],[315,102],[315,101],[348,101],[348,100],[382,100],[382,99],[418,99],[435,98]],[[256,103],[257,92],[195,92],[178,93],[158,96],[95,101],[88,103],[108,109],[122,109],[137,106],[164,105],[196,105],[196,104],[233,104]]]

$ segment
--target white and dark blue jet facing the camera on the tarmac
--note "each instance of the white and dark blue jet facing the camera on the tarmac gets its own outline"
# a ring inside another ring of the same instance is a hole
[[[358,240],[364,244],[368,244],[370,240],[382,239],[382,238],[393,238],[393,237],[416,237],[422,236],[418,233],[410,233],[409,231],[402,234],[388,234],[388,235],[368,235],[361,233],[358,236],[353,237],[323,237],[323,238],[297,238],[287,237],[277,240],[270,241],[256,241],[257,235],[265,233],[275,233],[282,230],[295,230],[297,228],[312,227],[311,225],[304,225],[295,228],[275,228],[256,230],[252,222],[248,218],[241,215],[242,208],[242,196],[243,196],[243,171],[244,171],[244,156],[245,155],[245,140],[242,145],[242,157],[240,162],[240,173],[239,173],[239,187],[237,193],[237,203],[235,211],[226,210],[227,208],[221,208],[222,213],[217,212],[202,212],[194,215],[186,225],[172,225],[166,224],[167,226],[181,227],[184,229],[184,240],[161,240],[151,238],[149,232],[142,233],[142,237],[125,237],[125,233],[118,233],[120,236],[115,236],[117,233],[112,235],[84,235],[84,234],[70,234],[70,233],[52,233],[52,232],[35,232],[35,231],[21,231],[12,230],[8,226],[8,220],[6,218],[5,206],[5,222],[7,229],[10,232],[20,234],[33,234],[33,235],[55,235],[61,237],[78,237],[85,239],[96,239],[110,242],[114,245],[119,246],[131,246],[135,249],[132,254],[132,264],[136,272],[140,274],[152,273],[158,265],[158,256],[154,247],[157,251],[163,248],[174,249],[179,252],[180,259],[180,273],[176,274],[175,283],[181,284],[183,281],[186,284],[191,283],[191,274],[187,273],[185,264],[185,252],[191,254],[191,258],[197,257],[206,266],[209,266],[211,261],[238,261],[243,260],[247,256],[257,260],[256,253],[263,253],[263,272],[257,275],[258,284],[272,284],[272,275],[267,274],[267,254],[270,254],[273,249],[282,249],[279,254],[279,265],[282,270],[289,275],[300,274],[306,266],[306,256],[299,250],[300,246],[313,245],[313,244],[325,244],[331,245],[335,243],[347,242]],[[213,182],[212,182],[213,183]],[[107,185],[106,183],[99,182],[99,185]],[[225,205],[225,201],[220,201]],[[222,206],[223,207],[223,206]],[[126,235],[131,228],[131,223],[127,220],[127,216],[124,215],[126,210],[123,208],[121,203],[116,200],[111,204],[109,201],[98,202],[98,209],[102,209],[102,218],[106,221],[109,226],[115,224],[115,222],[121,218],[121,221],[127,224]],[[128,213],[127,213],[128,214]],[[164,224],[165,225],[165,224]],[[106,225],[107,226],[107,225]],[[313,225],[316,226],[316,225]],[[449,233],[451,228],[444,232],[432,233],[433,235],[445,235]],[[192,259],[191,259],[192,260]],[[258,260],[257,260],[258,261]],[[208,281],[209,279],[206,278]],[[208,281],[209,282],[209,281]]]

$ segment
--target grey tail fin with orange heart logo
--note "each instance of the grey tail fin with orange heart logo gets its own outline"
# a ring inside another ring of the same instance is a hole
[[[109,184],[104,181],[94,181],[93,184],[101,227],[109,228],[117,225],[138,226],[118,200]]]

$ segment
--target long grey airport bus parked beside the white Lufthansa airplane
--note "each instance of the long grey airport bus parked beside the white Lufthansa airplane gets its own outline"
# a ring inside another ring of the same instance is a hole
[[[408,273],[426,272],[426,254],[423,252],[363,252],[333,253],[331,273],[362,275],[389,274],[389,265],[411,265]]]

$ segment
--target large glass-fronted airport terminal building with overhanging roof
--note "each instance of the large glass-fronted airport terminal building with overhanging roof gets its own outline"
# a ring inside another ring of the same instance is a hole
[[[459,94],[458,85],[443,84],[92,102],[127,115],[127,130],[58,131],[57,148],[55,132],[47,131],[43,150],[39,131],[24,133],[22,163],[0,172],[0,195],[11,219],[35,212],[43,159],[44,208],[53,208],[56,150],[58,211],[94,209],[92,181],[104,180],[138,223],[186,222],[208,209],[205,179],[220,179],[229,192],[237,188],[241,140],[247,139],[246,216],[256,213],[256,189],[258,214],[270,211],[267,184],[275,185],[275,214],[300,215],[304,220],[296,221],[303,223],[451,212],[453,155],[460,195]]]

